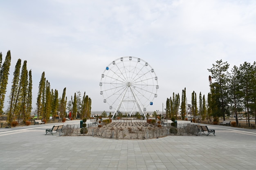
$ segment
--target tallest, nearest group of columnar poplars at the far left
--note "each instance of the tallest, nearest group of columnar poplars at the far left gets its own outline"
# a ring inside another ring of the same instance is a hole
[[[0,53],[0,66],[2,63],[2,53]],[[0,112],[3,114],[3,106],[6,88],[9,78],[9,68],[11,65],[11,51],[7,52],[5,61],[0,71]],[[9,106],[7,108],[8,124],[15,119],[27,120],[30,117],[32,109],[32,74],[31,70],[27,71],[27,61],[23,62],[21,71],[21,60],[18,59],[11,85],[11,93],[9,95]]]

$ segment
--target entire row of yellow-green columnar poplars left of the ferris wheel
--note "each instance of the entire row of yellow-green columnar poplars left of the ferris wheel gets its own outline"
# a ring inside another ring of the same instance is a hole
[[[0,114],[3,115],[4,99],[8,84],[9,70],[11,65],[11,51],[7,52],[5,61],[2,64],[2,53],[0,53]],[[80,92],[79,92],[80,95]],[[78,102],[76,103],[76,101]],[[91,114],[91,99],[88,95],[83,96],[82,102],[80,97],[72,101],[72,108],[69,111],[72,113],[80,113],[81,117],[90,117]],[[8,100],[8,108],[6,111],[7,122],[11,124],[13,120],[22,119],[23,122],[30,118],[32,110],[32,73],[27,70],[27,61],[23,62],[18,59],[11,85],[11,92]],[[63,89],[62,97],[58,98],[58,91],[51,89],[50,82],[45,78],[45,72],[42,73],[38,87],[38,96],[36,102],[36,112],[39,119],[49,120],[50,115],[55,119],[57,111],[60,112],[60,117],[66,117],[67,97],[66,88]],[[79,111],[77,111],[79,110]],[[72,116],[73,117],[73,116]],[[75,117],[74,117],[75,118]]]

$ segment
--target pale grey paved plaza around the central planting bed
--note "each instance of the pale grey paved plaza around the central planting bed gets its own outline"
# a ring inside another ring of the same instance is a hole
[[[53,125],[0,128],[0,170],[256,169],[255,129],[208,125],[216,136],[122,140],[45,135]]]

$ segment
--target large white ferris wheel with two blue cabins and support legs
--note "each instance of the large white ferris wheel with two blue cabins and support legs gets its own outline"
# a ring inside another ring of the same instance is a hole
[[[157,79],[154,69],[144,60],[121,57],[101,74],[100,94],[109,109],[115,110],[113,117],[120,112],[129,117],[139,112],[145,117],[144,112],[157,97]]]

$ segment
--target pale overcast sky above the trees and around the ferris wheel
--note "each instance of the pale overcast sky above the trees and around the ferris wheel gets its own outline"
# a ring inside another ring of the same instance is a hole
[[[61,97],[76,91],[92,99],[92,110],[109,110],[99,82],[106,66],[134,56],[152,66],[159,89],[153,106],[186,87],[207,97],[207,68],[216,60],[230,68],[254,62],[254,0],[1,0],[0,51],[11,50],[9,84],[18,58],[32,71],[33,110],[41,74]]]

